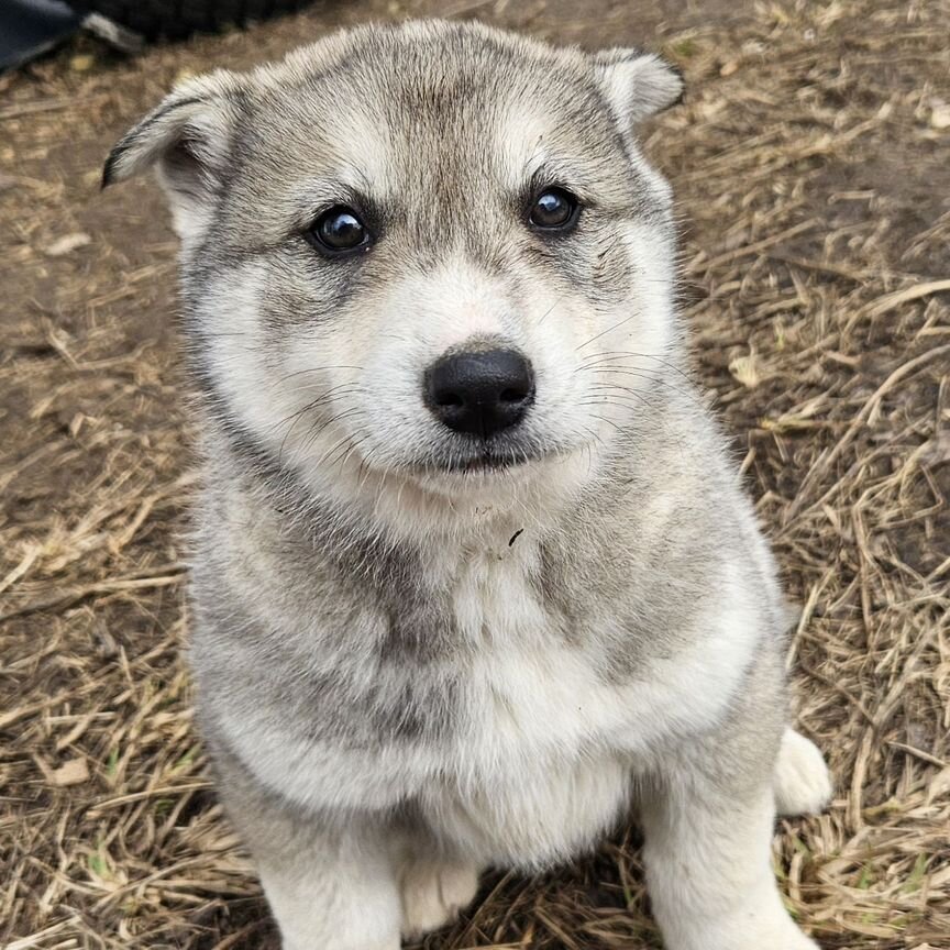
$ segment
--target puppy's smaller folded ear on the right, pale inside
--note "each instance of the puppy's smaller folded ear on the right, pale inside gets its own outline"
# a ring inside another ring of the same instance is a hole
[[[604,97],[625,129],[683,99],[683,76],[653,53],[604,49],[594,55]]]

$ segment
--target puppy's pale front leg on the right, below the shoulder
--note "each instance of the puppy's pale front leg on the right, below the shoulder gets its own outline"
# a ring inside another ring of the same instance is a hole
[[[772,870],[774,756],[748,761],[736,747],[687,750],[644,796],[647,882],[665,946],[817,950],[788,916]]]

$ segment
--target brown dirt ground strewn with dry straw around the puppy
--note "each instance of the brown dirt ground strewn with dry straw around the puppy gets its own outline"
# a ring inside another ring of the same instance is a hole
[[[648,147],[678,195],[697,374],[804,605],[797,715],[838,788],[781,824],[775,864],[827,948],[950,948],[950,8],[916,0],[352,0],[0,77],[0,941],[276,946],[180,655],[175,245],[154,185],[100,195],[99,168],[183,73],[410,13],[684,69]],[[658,947],[648,909],[620,829],[540,880],[489,876],[421,946]]]

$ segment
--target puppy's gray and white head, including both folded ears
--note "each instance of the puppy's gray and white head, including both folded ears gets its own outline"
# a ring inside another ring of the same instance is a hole
[[[678,95],[629,51],[371,27],[181,87],[107,181],[157,163],[232,431],[313,477],[457,486],[595,459],[637,415],[673,248],[631,130]]]

